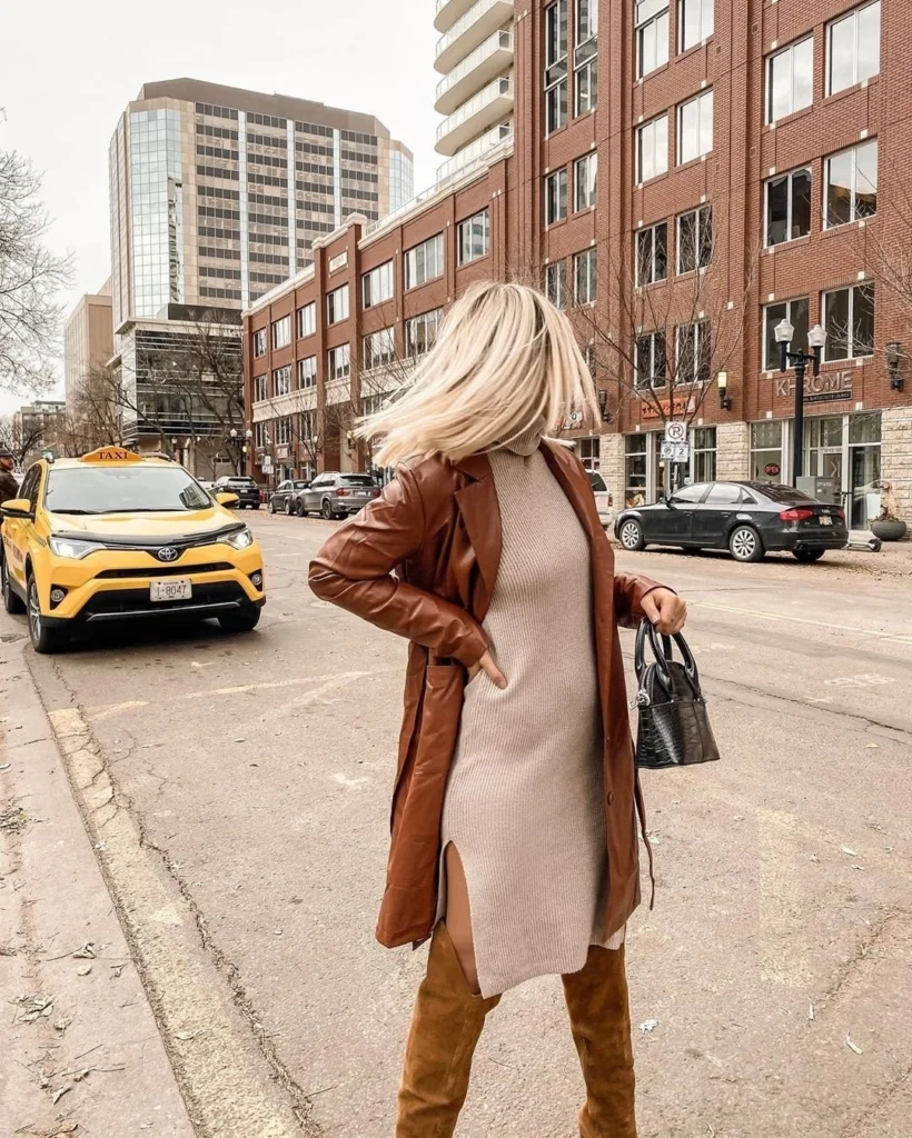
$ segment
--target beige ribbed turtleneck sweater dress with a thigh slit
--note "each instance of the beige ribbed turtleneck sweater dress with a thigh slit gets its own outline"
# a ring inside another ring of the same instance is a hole
[[[483,996],[576,972],[607,883],[589,539],[525,436],[491,453],[502,550],[484,621],[507,676],[466,687],[443,811],[466,873]],[[442,874],[442,877],[444,875]],[[442,880],[441,913],[445,912]]]

